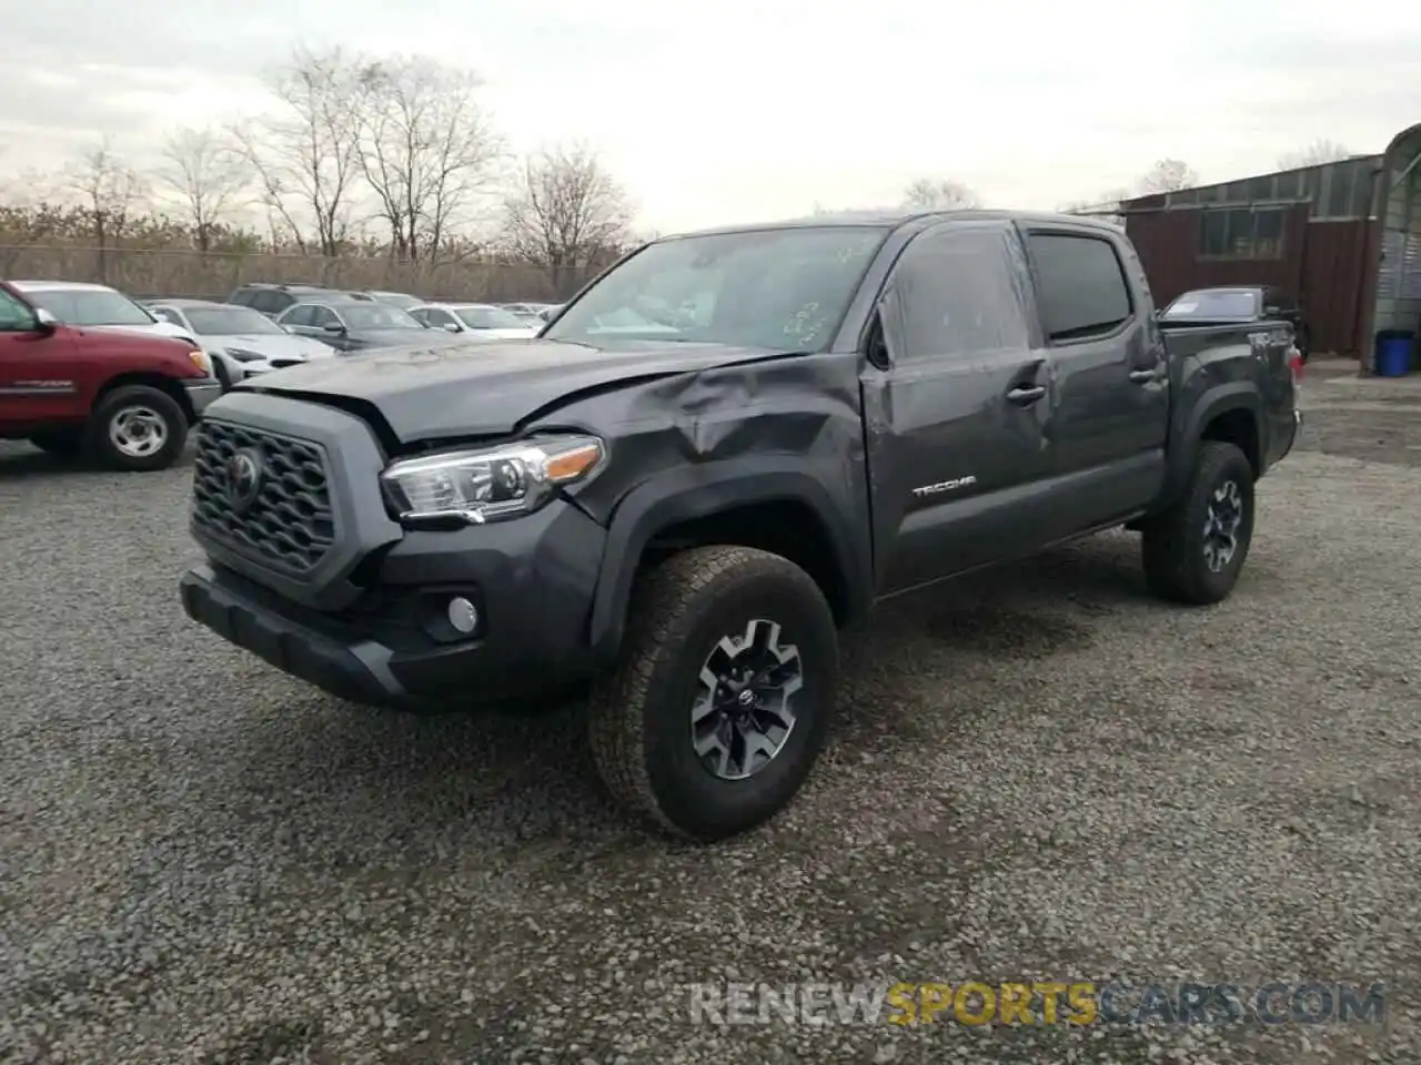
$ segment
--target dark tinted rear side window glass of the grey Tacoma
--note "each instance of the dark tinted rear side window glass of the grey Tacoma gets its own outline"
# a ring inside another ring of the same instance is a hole
[[[1036,298],[1047,339],[1076,341],[1114,332],[1134,307],[1114,244],[1101,237],[1033,233]]]

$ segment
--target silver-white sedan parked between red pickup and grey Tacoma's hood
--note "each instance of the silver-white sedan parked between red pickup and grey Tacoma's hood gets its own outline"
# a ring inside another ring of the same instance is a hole
[[[296,337],[250,307],[210,300],[165,300],[148,308],[198,338],[212,358],[223,392],[259,373],[334,355],[328,344]]]

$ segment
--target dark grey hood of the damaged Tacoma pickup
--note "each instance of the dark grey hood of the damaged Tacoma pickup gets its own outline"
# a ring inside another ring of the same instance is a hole
[[[585,389],[776,356],[722,344],[605,351],[560,341],[473,341],[307,362],[240,388],[371,403],[411,443],[509,433],[536,410]]]

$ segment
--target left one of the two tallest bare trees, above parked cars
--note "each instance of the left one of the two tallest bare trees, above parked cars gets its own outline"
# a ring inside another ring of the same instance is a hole
[[[303,253],[314,244],[320,254],[334,257],[350,233],[361,178],[367,65],[340,48],[297,48],[267,77],[277,112],[232,131],[256,176],[273,233],[290,233]],[[304,236],[303,219],[314,224],[314,241]]]

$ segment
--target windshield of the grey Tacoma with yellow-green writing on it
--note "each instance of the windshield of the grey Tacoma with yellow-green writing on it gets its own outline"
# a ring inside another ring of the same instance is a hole
[[[563,311],[544,339],[618,339],[820,351],[868,263],[880,226],[814,226],[664,240]]]

